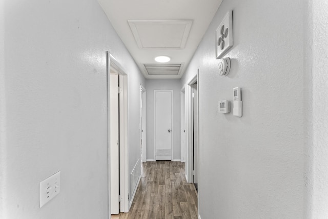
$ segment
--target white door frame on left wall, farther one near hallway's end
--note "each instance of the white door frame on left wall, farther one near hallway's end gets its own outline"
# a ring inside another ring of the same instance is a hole
[[[140,84],[140,143],[141,143],[141,151],[142,151],[142,156],[141,156],[141,163],[146,162],[146,153],[147,153],[147,148],[146,148],[146,116],[142,116],[142,114],[146,115],[146,88]],[[144,107],[142,107],[144,106]],[[142,126],[144,124],[144,126]],[[142,137],[142,135],[144,137]],[[142,141],[142,142],[141,142]]]

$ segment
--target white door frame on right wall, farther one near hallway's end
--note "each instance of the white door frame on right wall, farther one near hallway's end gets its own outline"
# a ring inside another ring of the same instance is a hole
[[[181,138],[181,157],[180,160],[182,163],[186,162],[186,158],[187,158],[187,133],[186,133],[186,85],[183,85],[183,87],[181,88],[180,91],[180,109],[181,109],[181,134],[180,134],[180,138]]]

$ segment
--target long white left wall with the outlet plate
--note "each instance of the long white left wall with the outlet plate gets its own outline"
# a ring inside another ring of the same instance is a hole
[[[144,77],[96,1],[1,1],[0,15],[0,217],[107,218],[105,52],[129,74],[130,166]],[[39,182],[59,170],[40,209]]]

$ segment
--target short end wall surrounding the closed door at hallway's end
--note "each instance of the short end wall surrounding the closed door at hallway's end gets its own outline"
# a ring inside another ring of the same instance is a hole
[[[173,90],[173,160],[180,160],[180,79],[146,79],[147,89],[147,159],[154,160],[154,90]]]

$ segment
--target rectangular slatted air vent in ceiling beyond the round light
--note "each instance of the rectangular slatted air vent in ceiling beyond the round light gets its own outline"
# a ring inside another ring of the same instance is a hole
[[[183,64],[144,64],[149,75],[179,74]]]

